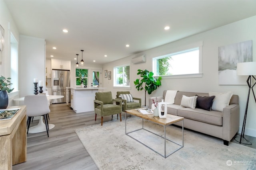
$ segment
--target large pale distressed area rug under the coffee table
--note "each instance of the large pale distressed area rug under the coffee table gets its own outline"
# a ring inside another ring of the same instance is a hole
[[[142,119],[127,119],[127,131],[139,129]],[[144,128],[163,134],[163,127],[144,121]],[[184,129],[184,147],[167,158],[125,135],[125,120],[103,123],[76,129],[84,148],[100,170],[255,170],[256,149],[230,143],[221,139]],[[163,139],[140,130],[130,133],[142,143],[164,153]],[[182,129],[166,128],[166,137],[182,144]],[[178,145],[177,145],[178,146]],[[175,149],[172,142],[166,144],[166,152]]]

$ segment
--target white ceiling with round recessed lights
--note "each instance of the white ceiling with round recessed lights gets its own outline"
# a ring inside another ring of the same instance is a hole
[[[79,54],[80,61],[84,50],[87,64],[115,61],[256,15],[256,0],[5,2],[21,35],[45,39],[46,58],[74,61]]]

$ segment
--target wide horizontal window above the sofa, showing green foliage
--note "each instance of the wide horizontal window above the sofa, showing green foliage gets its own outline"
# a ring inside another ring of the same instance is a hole
[[[153,58],[156,76],[202,74],[202,46]],[[190,77],[190,76],[187,76]]]

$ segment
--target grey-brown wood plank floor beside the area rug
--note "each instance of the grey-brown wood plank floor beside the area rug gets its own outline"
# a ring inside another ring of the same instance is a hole
[[[94,121],[94,112],[75,113],[66,104],[50,105],[50,121],[55,127],[46,132],[27,135],[27,161],[14,165],[13,170],[98,170],[88,152],[78,139],[75,129],[100,124],[100,117]],[[122,113],[124,120],[124,113]],[[116,115],[106,116],[106,121],[117,120]],[[30,126],[37,125],[34,120]],[[100,126],[100,125],[99,125]],[[240,139],[240,138],[239,138]],[[246,137],[252,142],[248,147],[256,148],[256,138]],[[232,142],[234,139],[232,139]]]

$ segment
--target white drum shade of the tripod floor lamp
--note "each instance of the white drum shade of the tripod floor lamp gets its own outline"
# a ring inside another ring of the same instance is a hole
[[[256,62],[237,63],[236,74],[239,76],[256,75]]]

